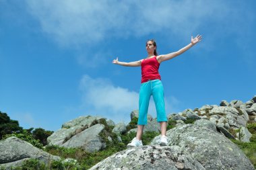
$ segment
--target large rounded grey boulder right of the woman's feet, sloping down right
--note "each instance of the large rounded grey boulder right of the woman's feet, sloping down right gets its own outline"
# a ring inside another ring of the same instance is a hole
[[[195,124],[172,128],[166,136],[168,145],[180,146],[205,169],[254,169],[243,151],[223,134],[216,132],[216,126],[209,120],[197,120]],[[159,140],[160,136],[156,136],[151,144],[158,144]]]

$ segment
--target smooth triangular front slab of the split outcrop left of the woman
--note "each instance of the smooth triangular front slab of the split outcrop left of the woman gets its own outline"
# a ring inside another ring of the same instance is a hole
[[[79,134],[75,134],[75,136],[61,144],[61,146],[67,148],[83,148],[89,153],[100,151],[106,147],[106,143],[99,135],[102,130],[104,130],[103,124],[95,124]]]

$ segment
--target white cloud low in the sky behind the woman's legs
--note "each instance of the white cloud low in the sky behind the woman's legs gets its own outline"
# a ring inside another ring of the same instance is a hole
[[[82,91],[82,106],[79,107],[79,110],[90,115],[110,118],[115,122],[129,122],[130,113],[138,109],[139,93],[117,87],[108,79],[93,79],[84,75],[79,89]],[[148,113],[156,118],[156,109],[152,98]],[[177,107],[174,106],[180,103],[178,99],[170,97],[170,101],[165,99],[165,102],[166,114],[169,114],[168,110],[177,112]]]

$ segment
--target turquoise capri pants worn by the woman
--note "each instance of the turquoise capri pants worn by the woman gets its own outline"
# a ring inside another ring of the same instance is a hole
[[[164,88],[162,81],[155,79],[141,83],[139,90],[139,120],[138,125],[148,124],[148,105],[150,103],[150,97],[153,95],[156,105],[157,121],[167,122],[165,104],[164,104]]]

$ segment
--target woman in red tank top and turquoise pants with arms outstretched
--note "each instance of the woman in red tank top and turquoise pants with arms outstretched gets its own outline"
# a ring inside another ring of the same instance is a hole
[[[148,56],[144,59],[133,62],[121,62],[117,59],[113,60],[113,64],[127,67],[141,66],[141,87],[139,90],[139,119],[137,123],[137,135],[127,146],[135,147],[142,146],[141,136],[144,126],[147,124],[148,105],[151,95],[153,95],[156,105],[157,121],[160,122],[161,138],[160,145],[166,146],[168,144],[166,138],[167,117],[164,105],[164,89],[162,87],[161,77],[158,73],[160,63],[170,60],[175,56],[179,56],[183,52],[189,50],[192,46],[201,41],[202,36],[197,35],[195,38],[191,36],[191,43],[181,48],[177,52],[169,54],[158,55],[156,52],[156,42],[148,40],[146,42],[146,50]]]

